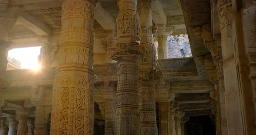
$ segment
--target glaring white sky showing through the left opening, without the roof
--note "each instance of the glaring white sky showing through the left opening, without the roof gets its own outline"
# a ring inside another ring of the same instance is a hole
[[[16,48],[8,52],[8,56],[15,58],[21,62],[22,69],[38,70],[38,55],[40,55],[39,47]]]

